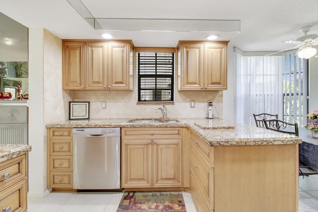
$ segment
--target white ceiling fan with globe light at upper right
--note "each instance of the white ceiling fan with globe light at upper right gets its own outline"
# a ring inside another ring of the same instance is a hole
[[[312,26],[304,26],[300,29],[302,33],[304,33],[303,36],[297,38],[296,40],[287,40],[283,41],[285,43],[292,43],[295,44],[294,47],[284,49],[278,52],[274,52],[269,55],[273,55],[279,52],[284,52],[287,50],[294,50],[298,49],[296,54],[298,55],[299,58],[302,59],[309,59],[313,56],[316,55],[317,53],[317,48],[318,48],[318,35],[317,34],[307,34]],[[316,56],[318,57],[318,56]]]

